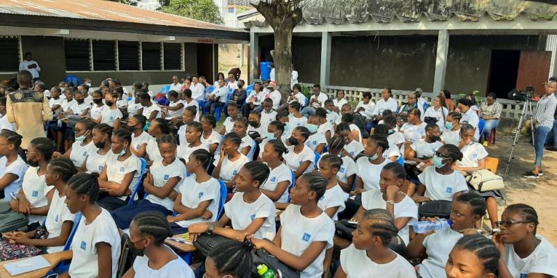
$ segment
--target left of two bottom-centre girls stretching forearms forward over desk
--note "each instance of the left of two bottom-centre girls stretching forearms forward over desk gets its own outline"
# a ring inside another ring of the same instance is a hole
[[[269,177],[269,167],[259,161],[246,163],[235,177],[236,193],[224,205],[224,214],[218,222],[191,224],[188,232],[191,242],[203,233],[218,234],[243,241],[246,235],[273,240],[275,236],[274,204],[259,190]],[[225,228],[232,224],[232,229]]]

